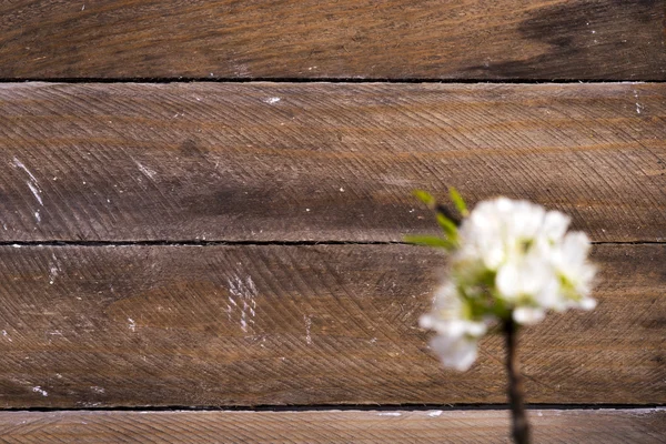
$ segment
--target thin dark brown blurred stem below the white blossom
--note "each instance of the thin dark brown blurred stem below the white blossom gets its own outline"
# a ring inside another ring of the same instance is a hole
[[[517,359],[518,325],[512,317],[504,322],[506,336],[506,372],[508,374],[508,403],[513,420],[513,438],[517,444],[529,444],[529,424],[525,414],[525,395],[523,391],[523,376]]]

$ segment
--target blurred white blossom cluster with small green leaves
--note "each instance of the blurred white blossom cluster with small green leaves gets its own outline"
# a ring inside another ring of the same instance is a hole
[[[426,193],[421,198],[434,203]],[[437,333],[431,345],[444,365],[467,370],[478,339],[497,321],[534,324],[549,310],[594,309],[589,240],[566,232],[569,218],[506,198],[481,202],[467,213],[455,191],[452,198],[466,218],[457,229],[438,214],[447,234],[440,246],[452,258],[433,311],[421,317],[422,327]],[[420,242],[424,239],[415,242],[436,243]]]

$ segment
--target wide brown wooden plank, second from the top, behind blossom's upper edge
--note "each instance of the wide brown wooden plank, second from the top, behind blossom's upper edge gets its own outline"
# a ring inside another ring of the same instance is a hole
[[[400,241],[411,196],[666,239],[666,84],[3,84],[1,241]]]

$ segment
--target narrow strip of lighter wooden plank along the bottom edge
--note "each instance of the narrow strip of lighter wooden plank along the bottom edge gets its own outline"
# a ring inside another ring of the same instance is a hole
[[[536,443],[663,443],[666,411],[531,411]],[[2,412],[4,443],[509,443],[504,411]]]

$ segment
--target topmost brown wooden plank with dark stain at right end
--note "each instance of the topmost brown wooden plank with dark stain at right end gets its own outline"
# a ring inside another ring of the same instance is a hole
[[[0,78],[664,80],[662,0],[0,3]]]

